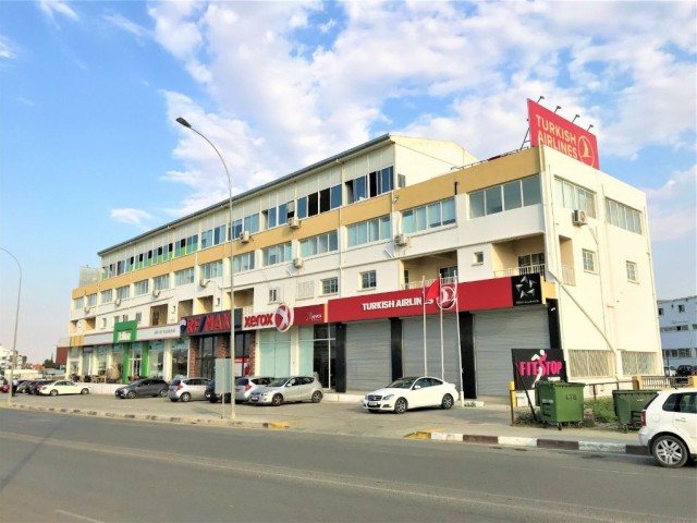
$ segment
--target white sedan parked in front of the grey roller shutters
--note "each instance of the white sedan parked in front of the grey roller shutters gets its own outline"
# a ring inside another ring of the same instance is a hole
[[[402,414],[408,409],[440,406],[450,409],[457,398],[453,384],[428,376],[405,377],[382,389],[368,392],[363,408],[369,412],[392,411]]]

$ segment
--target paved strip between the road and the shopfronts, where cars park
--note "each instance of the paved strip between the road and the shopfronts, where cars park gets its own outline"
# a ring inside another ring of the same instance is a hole
[[[647,455],[638,445],[636,431],[624,434],[615,427],[576,428],[555,426],[513,426],[506,398],[465,400],[449,411],[428,409],[402,415],[368,413],[360,406],[360,393],[327,393],[321,403],[296,403],[280,408],[231,405],[193,401],[172,402],[167,398],[120,400],[113,396],[37,397],[0,394],[0,408],[25,409],[96,417],[180,423],[188,425],[284,429],[327,435],[430,439],[449,442],[500,445],[510,447],[578,450]],[[524,412],[518,408],[517,412]],[[0,411],[1,412],[1,411]]]

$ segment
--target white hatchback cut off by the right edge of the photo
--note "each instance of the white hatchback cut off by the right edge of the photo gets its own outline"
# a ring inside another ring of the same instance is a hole
[[[661,466],[676,469],[697,459],[697,389],[659,391],[641,411],[639,445]]]

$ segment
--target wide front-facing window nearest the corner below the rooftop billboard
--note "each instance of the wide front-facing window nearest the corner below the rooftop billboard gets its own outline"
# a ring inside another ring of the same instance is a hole
[[[496,215],[541,202],[539,177],[528,177],[469,193],[469,218]]]

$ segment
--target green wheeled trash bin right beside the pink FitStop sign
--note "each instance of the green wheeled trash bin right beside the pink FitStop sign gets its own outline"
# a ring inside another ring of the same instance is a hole
[[[586,384],[565,381],[538,381],[535,401],[540,409],[541,422],[554,424],[561,430],[562,423],[584,421],[584,388]]]

